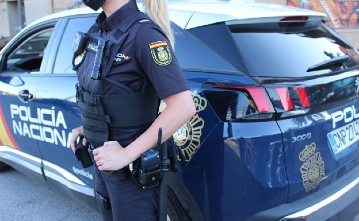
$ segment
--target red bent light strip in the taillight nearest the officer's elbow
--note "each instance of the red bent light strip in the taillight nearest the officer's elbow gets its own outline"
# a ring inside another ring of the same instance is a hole
[[[260,112],[274,112],[274,107],[272,106],[266,91],[262,87],[215,85],[213,88],[246,90],[250,93]]]

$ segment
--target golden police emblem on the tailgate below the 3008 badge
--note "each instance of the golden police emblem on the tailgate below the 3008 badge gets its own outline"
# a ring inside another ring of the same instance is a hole
[[[304,162],[300,167],[300,173],[307,192],[316,188],[325,177],[324,161],[320,153],[315,150],[316,144],[311,143],[299,154],[299,160]]]

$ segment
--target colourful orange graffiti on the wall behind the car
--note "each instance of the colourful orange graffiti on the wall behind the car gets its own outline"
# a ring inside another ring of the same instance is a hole
[[[359,0],[287,0],[287,5],[326,13],[335,28],[359,27]]]

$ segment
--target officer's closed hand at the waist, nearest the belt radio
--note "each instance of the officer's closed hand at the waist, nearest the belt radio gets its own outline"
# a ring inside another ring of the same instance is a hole
[[[133,162],[117,141],[107,141],[92,153],[99,170],[119,170]]]

